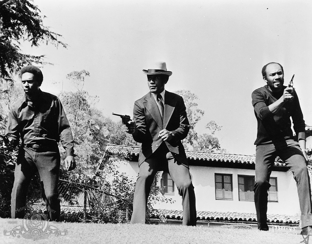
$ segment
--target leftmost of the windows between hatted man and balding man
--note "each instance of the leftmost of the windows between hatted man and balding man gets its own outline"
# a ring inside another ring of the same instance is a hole
[[[233,200],[232,175],[215,174],[216,199]]]

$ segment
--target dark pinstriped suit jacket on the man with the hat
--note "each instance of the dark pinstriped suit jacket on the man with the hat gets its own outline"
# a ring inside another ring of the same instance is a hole
[[[134,102],[133,118],[138,133],[133,135],[133,138],[135,141],[142,143],[139,165],[152,155],[161,143],[166,144],[177,161],[183,165],[188,165],[181,142],[188,135],[190,127],[183,98],[175,93],[166,91],[163,113],[162,120],[157,103],[150,92]],[[158,137],[158,133],[162,129],[171,131],[173,139],[163,141]]]

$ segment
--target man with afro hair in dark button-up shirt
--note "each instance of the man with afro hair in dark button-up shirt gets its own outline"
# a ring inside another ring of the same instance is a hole
[[[11,149],[18,145],[20,138],[22,140],[15,165],[11,217],[24,218],[28,185],[39,171],[49,219],[60,221],[57,187],[61,157],[57,142],[61,141],[66,150],[67,170],[75,169],[71,127],[59,98],[40,90],[43,75],[38,67],[23,67],[20,79],[25,95],[10,109],[6,131],[8,142],[4,145]]]

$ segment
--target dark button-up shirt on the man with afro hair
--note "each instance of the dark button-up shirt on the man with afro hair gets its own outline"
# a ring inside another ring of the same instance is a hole
[[[6,135],[18,144],[45,144],[61,141],[66,156],[74,155],[73,136],[58,97],[39,90],[37,102],[25,95],[9,112]]]

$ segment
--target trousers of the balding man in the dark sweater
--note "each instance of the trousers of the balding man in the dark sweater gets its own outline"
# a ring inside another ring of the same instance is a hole
[[[256,146],[256,183],[254,192],[258,229],[269,229],[266,223],[267,190],[271,186],[269,180],[276,156],[280,156],[294,174],[301,210],[301,227],[311,226],[311,187],[306,161],[298,142],[287,140],[276,147],[273,144]]]

